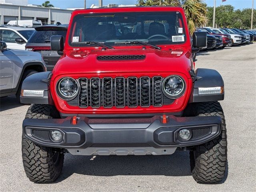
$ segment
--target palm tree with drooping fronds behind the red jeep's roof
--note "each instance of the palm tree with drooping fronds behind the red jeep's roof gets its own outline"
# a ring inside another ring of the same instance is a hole
[[[140,0],[138,3],[142,6],[181,6],[185,11],[191,35],[196,27],[204,26],[208,22],[203,0]]]

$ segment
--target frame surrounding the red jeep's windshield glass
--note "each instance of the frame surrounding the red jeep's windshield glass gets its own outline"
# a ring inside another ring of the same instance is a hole
[[[90,14],[117,14],[117,13],[127,13],[127,14],[132,14],[133,12],[141,12],[141,13],[145,13],[145,12],[152,12],[152,11],[120,11],[120,12],[90,12]],[[160,45],[160,46],[175,46],[175,45],[178,45],[178,46],[181,46],[181,45],[184,45],[184,44],[187,44],[188,42],[190,42],[190,34],[188,33],[188,26],[187,26],[187,23],[186,23],[186,20],[184,19],[184,12],[180,12],[178,10],[173,10],[173,11],[162,11],[162,12],[178,12],[180,14],[180,20],[182,22],[182,27],[183,27],[183,30],[184,30],[184,33],[183,33],[183,36],[184,36],[184,41],[180,41],[180,42],[177,42],[177,43],[173,43],[172,41],[169,41],[169,43],[161,43],[160,40],[158,40],[157,43],[152,43],[153,41],[149,41],[148,39],[126,39],[126,41],[128,41],[127,44],[124,44],[122,40],[120,40],[120,45],[117,43],[117,42],[114,42],[112,40],[106,40],[105,42],[102,42],[102,41],[98,41],[100,43],[103,43],[103,44],[107,44],[109,46],[138,46],[138,44],[132,44],[132,43],[129,43],[130,41],[134,42],[134,41],[141,41],[141,42],[147,42],[147,43],[150,43],[152,45]],[[160,13],[162,13],[160,12]],[[83,15],[88,15],[88,13],[82,13]],[[82,14],[79,14],[80,16]],[[80,48],[80,47],[89,47],[89,48],[92,48],[92,47],[95,47],[96,45],[94,44],[85,44],[81,42],[81,44],[79,43],[76,43],[76,44],[72,44],[71,40],[72,40],[72,33],[74,32],[74,25],[75,25],[75,22],[76,22],[76,16],[78,16],[78,14],[74,14],[72,15],[72,18],[71,18],[71,22],[70,22],[70,25],[68,27],[68,34],[67,34],[67,37],[66,38],[66,48],[67,47],[70,47],[70,48]],[[172,39],[172,36],[170,36],[170,39]],[[96,40],[94,40],[96,42]],[[118,39],[117,39],[118,41]],[[112,44],[111,44],[112,43]],[[122,45],[121,45],[122,44]]]

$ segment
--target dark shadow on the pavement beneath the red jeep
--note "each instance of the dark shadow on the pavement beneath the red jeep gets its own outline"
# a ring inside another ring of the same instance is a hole
[[[62,182],[74,173],[90,176],[191,176],[188,151],[176,151],[173,155],[161,156],[72,156],[66,154],[62,174],[54,183]],[[228,169],[222,183],[225,182],[227,176]]]

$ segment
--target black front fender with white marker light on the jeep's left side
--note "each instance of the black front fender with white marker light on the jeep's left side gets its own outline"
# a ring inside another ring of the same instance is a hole
[[[50,94],[50,88],[48,80],[50,79],[51,72],[40,72],[28,76],[22,84],[20,102],[27,104],[50,104],[54,105],[52,96]],[[30,91],[42,91],[42,96],[36,94],[31,94],[26,96],[24,90]]]

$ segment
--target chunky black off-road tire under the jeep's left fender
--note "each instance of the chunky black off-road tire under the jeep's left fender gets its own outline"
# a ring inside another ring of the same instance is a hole
[[[59,113],[54,106],[32,104],[25,118],[59,118]],[[64,154],[59,149],[34,144],[22,134],[22,160],[30,181],[49,183],[60,176]]]

